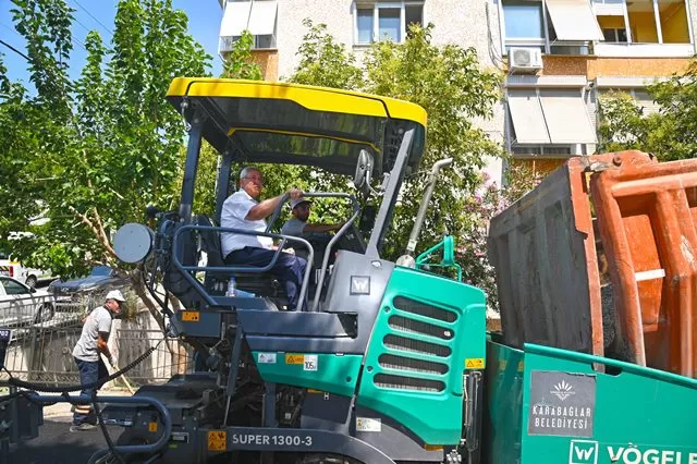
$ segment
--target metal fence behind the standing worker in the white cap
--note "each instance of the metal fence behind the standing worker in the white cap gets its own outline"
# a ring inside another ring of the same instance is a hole
[[[122,290],[123,291],[123,290]],[[192,370],[192,353],[175,340],[162,341],[163,334],[148,310],[131,291],[123,291],[126,305],[134,305],[132,320],[115,319],[112,325],[110,350],[117,354],[119,367],[137,359],[149,347],[157,349],[125,377],[134,387],[159,383],[174,374]],[[52,309],[48,316],[27,321],[29,308],[14,305],[5,312],[2,325],[12,329],[12,341],[5,355],[5,367],[13,377],[30,382],[50,386],[80,383],[77,366],[73,358],[73,347],[80,339],[84,318],[88,312],[102,304],[103,292],[78,294],[50,300]],[[28,305],[29,303],[27,303]],[[32,309],[34,310],[34,309]],[[0,373],[0,383],[8,380],[7,373]],[[108,387],[119,387],[120,379]]]

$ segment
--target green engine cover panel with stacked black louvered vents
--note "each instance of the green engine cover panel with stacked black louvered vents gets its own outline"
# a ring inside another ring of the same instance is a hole
[[[481,290],[398,267],[368,344],[357,402],[427,444],[456,444],[465,361],[484,368],[485,350]]]

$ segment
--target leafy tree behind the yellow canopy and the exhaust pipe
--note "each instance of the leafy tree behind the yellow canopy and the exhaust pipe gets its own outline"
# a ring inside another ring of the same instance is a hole
[[[452,157],[453,164],[441,172],[436,186],[418,249],[435,245],[445,233],[455,235],[458,244],[476,242],[476,255],[475,251],[460,254],[458,261],[472,283],[494,291],[484,252],[486,224],[482,221],[489,213],[481,210],[481,202],[473,200],[473,193],[486,188],[479,172],[487,157],[501,156],[502,151],[473,120],[491,117],[493,105],[500,98],[499,73],[482,70],[472,48],[432,45],[432,25],[412,26],[403,44],[372,44],[365,53],[364,72],[356,65],[354,56],[327,33],[323,24],[314,25],[308,20],[304,24],[309,32],[298,50],[301,61],[291,82],[394,97],[418,103],[428,112],[421,171],[405,180],[384,255],[394,259],[403,253],[430,167],[437,160]],[[346,180],[331,179],[314,186],[346,191]],[[320,218],[330,221],[321,215]],[[475,261],[484,264],[478,266]]]

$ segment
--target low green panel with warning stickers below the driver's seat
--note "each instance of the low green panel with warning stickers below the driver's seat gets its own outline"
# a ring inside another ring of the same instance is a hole
[[[357,354],[253,353],[259,375],[267,382],[311,388],[346,396],[353,396],[363,359]]]

